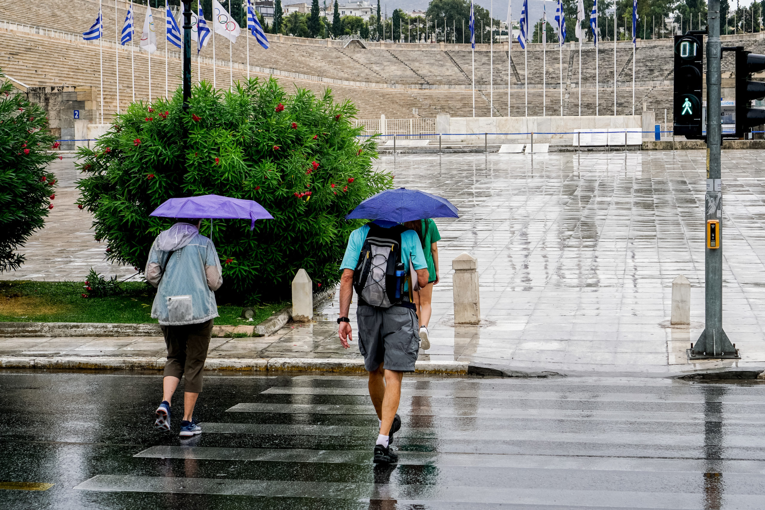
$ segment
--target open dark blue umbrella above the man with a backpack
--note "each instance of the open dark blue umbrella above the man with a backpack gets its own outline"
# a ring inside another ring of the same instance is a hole
[[[369,197],[345,219],[386,219],[397,223],[425,218],[458,218],[457,207],[420,190],[385,190]]]

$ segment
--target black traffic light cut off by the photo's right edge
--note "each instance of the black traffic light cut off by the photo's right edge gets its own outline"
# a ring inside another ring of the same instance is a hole
[[[750,80],[751,73],[765,70],[765,55],[736,47],[736,138],[744,138],[756,125],[765,124],[765,109],[750,108],[753,99],[765,97],[765,82]]]

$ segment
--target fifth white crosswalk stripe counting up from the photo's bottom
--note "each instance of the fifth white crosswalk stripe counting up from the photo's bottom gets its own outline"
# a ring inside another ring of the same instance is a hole
[[[265,395],[350,395],[366,397],[369,395],[367,388],[323,388],[311,386],[272,386],[264,391]],[[756,395],[724,395],[707,400],[704,395],[656,395],[655,393],[577,393],[560,391],[508,391],[502,388],[474,389],[416,389],[402,388],[402,397],[429,397],[429,398],[494,398],[494,399],[522,399],[522,400],[565,400],[565,401],[611,401],[611,402],[659,402],[662,404],[672,403],[722,403],[722,404],[765,404],[765,395],[756,398]]]

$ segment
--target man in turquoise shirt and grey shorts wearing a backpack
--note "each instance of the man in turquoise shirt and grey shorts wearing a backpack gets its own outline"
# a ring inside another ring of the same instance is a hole
[[[401,428],[396,414],[404,372],[414,372],[420,338],[410,261],[420,286],[428,283],[428,262],[417,232],[399,223],[376,219],[354,230],[340,269],[338,336],[343,347],[353,340],[348,310],[356,290],[359,350],[369,372],[369,397],[380,424],[375,463],[396,463],[393,434]]]

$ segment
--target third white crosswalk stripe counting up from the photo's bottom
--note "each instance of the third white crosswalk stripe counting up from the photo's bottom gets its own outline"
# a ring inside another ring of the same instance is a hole
[[[369,427],[353,427],[350,425],[294,425],[294,424],[231,424],[231,423],[203,423],[202,430],[205,434],[259,434],[276,436],[332,436],[332,437],[375,437],[377,434],[376,424]],[[490,437],[478,439],[480,437]],[[565,443],[599,443],[599,444],[646,444],[666,445],[672,447],[688,446],[698,447],[704,443],[703,431],[687,434],[658,434],[654,433],[594,433],[587,434],[560,433],[545,431],[540,434],[539,430],[519,430],[513,424],[506,424],[501,429],[480,427],[471,430],[433,429],[425,427],[402,427],[396,432],[396,437],[411,439],[438,439],[457,440],[461,442],[484,442],[484,441],[558,441]],[[765,448],[765,436],[732,435],[725,434],[721,438],[721,447],[741,448]]]

